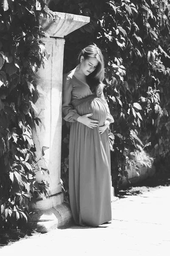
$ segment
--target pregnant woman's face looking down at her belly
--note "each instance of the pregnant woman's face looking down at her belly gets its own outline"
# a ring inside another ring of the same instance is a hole
[[[96,58],[90,57],[88,59],[84,59],[82,56],[80,59],[80,70],[85,76],[88,76],[96,69],[98,64],[99,61]]]

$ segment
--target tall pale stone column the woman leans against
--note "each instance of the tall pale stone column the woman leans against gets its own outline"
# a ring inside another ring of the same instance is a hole
[[[51,11],[50,11],[51,12]],[[39,166],[49,170],[49,177],[41,172],[36,173],[37,180],[48,180],[50,196],[32,200],[29,206],[33,212],[28,226],[40,232],[48,232],[52,228],[64,227],[71,221],[71,211],[63,202],[60,183],[61,164],[61,131],[62,131],[62,73],[64,36],[90,22],[89,17],[60,12],[51,12],[54,19],[40,17],[40,24],[50,38],[42,38],[50,57],[38,72],[37,86],[42,90],[36,102],[37,116],[43,126],[33,131],[37,159],[42,157],[42,147],[47,147]]]

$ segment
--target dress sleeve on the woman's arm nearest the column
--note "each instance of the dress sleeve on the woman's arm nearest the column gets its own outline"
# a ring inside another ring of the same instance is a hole
[[[70,77],[63,77],[62,87],[62,117],[65,121],[76,122],[80,116],[77,110],[71,105],[71,92],[73,90],[73,84]]]

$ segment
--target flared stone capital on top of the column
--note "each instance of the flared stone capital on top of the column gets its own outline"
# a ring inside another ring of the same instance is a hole
[[[40,14],[40,26],[48,33],[50,37],[63,38],[76,29],[81,28],[90,22],[90,17],[74,15],[65,12],[48,11],[50,15],[45,17]]]

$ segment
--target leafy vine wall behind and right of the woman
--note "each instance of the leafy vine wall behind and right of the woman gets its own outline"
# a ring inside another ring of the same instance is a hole
[[[115,119],[110,143],[112,178],[117,186],[120,173],[125,172],[126,151],[150,145],[146,149],[156,161],[170,152],[170,1],[53,0],[50,8],[91,17],[90,23],[66,37],[64,71],[76,66],[79,49],[92,43],[102,49],[105,98]],[[63,125],[65,183],[68,134]]]

